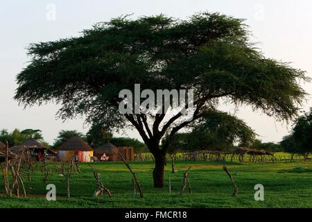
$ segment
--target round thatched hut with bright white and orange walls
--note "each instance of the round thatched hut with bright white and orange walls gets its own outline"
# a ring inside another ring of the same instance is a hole
[[[91,157],[93,157],[93,149],[80,137],[67,140],[56,150],[60,162],[69,162],[72,159],[76,162],[91,162]]]

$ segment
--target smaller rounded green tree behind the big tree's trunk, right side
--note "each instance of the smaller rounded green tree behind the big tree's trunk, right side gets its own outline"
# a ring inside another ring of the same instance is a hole
[[[255,136],[254,131],[241,119],[226,112],[209,110],[191,133],[178,133],[173,137],[168,152],[175,150],[222,151],[233,148],[235,143],[249,146],[254,142]],[[165,140],[166,138],[163,144]]]

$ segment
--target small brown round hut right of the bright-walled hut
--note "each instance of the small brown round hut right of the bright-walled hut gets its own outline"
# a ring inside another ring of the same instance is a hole
[[[111,143],[104,144],[94,150],[94,156],[100,161],[119,161],[119,148]],[[108,159],[105,157],[108,157]]]

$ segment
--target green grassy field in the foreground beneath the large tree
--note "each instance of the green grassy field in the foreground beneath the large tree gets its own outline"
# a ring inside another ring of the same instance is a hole
[[[223,162],[176,162],[176,173],[166,167],[166,185],[171,175],[172,194],[166,189],[153,189],[153,162],[130,162],[137,173],[145,198],[132,198],[132,176],[123,162],[101,162],[93,166],[101,173],[103,184],[112,192],[93,197],[96,183],[88,164],[80,164],[81,173],[71,176],[71,198],[66,198],[66,184],[55,164],[49,164],[53,172],[46,183],[40,167],[35,169],[31,182],[24,175],[27,198],[3,195],[3,179],[0,179],[0,207],[312,207],[312,162],[288,163],[239,163],[227,162],[227,168],[239,187],[239,196],[233,197],[233,187],[222,169]],[[180,196],[183,172],[189,172],[192,196],[185,191]],[[11,181],[12,182],[12,181]],[[46,185],[55,184],[57,200],[46,200]],[[254,185],[265,187],[265,200],[254,200]]]

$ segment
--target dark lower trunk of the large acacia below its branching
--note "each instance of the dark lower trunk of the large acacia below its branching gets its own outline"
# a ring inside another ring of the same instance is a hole
[[[166,164],[166,154],[162,150],[154,154],[155,168],[153,171],[153,180],[155,188],[164,188],[164,167]]]

